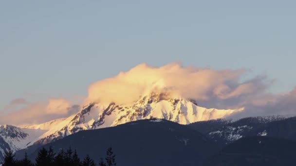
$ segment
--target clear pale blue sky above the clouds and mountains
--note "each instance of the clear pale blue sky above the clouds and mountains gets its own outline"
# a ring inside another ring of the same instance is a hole
[[[272,92],[289,91],[296,1],[0,2],[0,109],[20,97],[87,96],[90,83],[121,70],[173,61],[247,68],[276,79]]]

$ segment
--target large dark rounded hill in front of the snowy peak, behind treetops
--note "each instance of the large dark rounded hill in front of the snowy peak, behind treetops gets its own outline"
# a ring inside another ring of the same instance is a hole
[[[201,166],[217,152],[214,143],[203,134],[162,119],[146,119],[115,127],[74,133],[43,147],[55,152],[69,147],[77,149],[80,158],[89,154],[98,162],[112,147],[119,166]],[[41,147],[17,152],[19,158],[27,151],[34,161]]]

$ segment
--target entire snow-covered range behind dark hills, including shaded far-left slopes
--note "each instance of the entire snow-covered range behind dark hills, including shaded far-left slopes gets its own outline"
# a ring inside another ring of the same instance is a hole
[[[14,151],[32,145],[43,145],[82,130],[93,130],[116,126],[127,122],[161,118],[189,124],[201,120],[228,116],[238,110],[206,109],[197,105],[195,100],[171,97],[166,93],[149,93],[131,104],[89,103],[78,113],[42,124],[22,126],[21,128],[2,126],[2,146],[0,159],[8,148]],[[4,134],[11,133],[11,134]],[[15,135],[12,133],[16,133]]]

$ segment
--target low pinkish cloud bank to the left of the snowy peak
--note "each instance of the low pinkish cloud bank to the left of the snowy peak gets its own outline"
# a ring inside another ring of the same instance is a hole
[[[31,103],[6,115],[0,116],[0,124],[38,124],[77,113],[79,105],[61,98],[50,98],[46,102]]]

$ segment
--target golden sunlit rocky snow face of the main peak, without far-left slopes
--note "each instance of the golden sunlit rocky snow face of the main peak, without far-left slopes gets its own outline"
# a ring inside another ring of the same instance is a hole
[[[116,126],[140,119],[161,118],[189,124],[201,120],[228,116],[239,110],[218,110],[200,107],[193,100],[171,98],[162,93],[150,93],[129,105],[91,103],[76,115],[65,118],[40,136],[35,144],[47,144],[81,130]],[[32,145],[33,142],[30,144]]]

